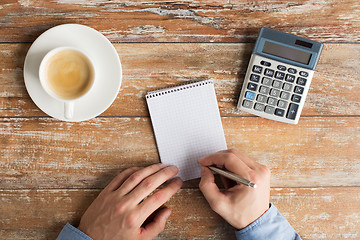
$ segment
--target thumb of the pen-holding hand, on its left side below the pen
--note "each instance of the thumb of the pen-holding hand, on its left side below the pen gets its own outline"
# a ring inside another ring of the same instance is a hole
[[[199,183],[200,191],[203,193],[205,199],[208,201],[210,207],[215,212],[221,212],[222,204],[226,204],[226,196],[220,192],[215,183],[214,175],[207,167],[201,168],[201,180]]]

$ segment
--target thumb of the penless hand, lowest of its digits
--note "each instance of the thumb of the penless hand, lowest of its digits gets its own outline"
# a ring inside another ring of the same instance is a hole
[[[168,208],[161,209],[154,217],[154,220],[142,229],[141,235],[145,239],[153,239],[159,235],[165,228],[166,220],[169,218],[171,210]]]

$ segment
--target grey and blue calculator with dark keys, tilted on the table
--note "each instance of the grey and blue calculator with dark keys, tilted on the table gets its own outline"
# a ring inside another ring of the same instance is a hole
[[[261,28],[237,108],[297,124],[323,44]]]

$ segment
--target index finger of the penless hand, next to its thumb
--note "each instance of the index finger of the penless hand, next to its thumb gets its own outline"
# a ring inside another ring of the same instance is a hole
[[[140,214],[143,221],[147,219],[156,209],[166,203],[179,189],[183,182],[180,178],[172,179],[165,187],[156,191],[140,204]]]

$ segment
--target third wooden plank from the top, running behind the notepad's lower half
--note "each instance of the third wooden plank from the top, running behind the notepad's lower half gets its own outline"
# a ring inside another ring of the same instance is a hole
[[[228,147],[269,166],[274,187],[360,186],[359,117],[222,122]],[[2,118],[0,144],[2,189],[102,188],[123,169],[159,162],[149,118]]]

